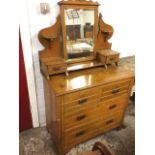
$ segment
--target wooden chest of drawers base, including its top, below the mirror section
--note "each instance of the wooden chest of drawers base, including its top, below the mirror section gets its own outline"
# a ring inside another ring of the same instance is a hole
[[[122,67],[98,67],[46,80],[53,96],[46,101],[47,118],[59,120],[59,125],[48,121],[57,150],[65,154],[76,144],[121,126],[133,80],[133,72]]]

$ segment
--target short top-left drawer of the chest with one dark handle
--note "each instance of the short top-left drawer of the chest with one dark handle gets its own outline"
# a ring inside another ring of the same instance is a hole
[[[64,96],[64,102],[69,103],[78,100],[79,103],[85,103],[88,100],[88,96],[99,94],[101,91],[100,87],[89,88],[74,93],[66,94]]]

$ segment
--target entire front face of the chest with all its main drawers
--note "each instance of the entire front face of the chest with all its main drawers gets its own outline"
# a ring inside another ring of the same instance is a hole
[[[130,79],[120,80],[64,96],[66,150],[121,125],[129,85]]]

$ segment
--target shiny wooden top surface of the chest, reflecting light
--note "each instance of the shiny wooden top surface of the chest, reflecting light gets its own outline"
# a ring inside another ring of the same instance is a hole
[[[128,66],[125,65],[125,61],[128,62]],[[132,66],[132,68],[130,68],[130,66]],[[56,95],[62,95],[80,89],[134,77],[133,66],[134,65],[129,64],[128,59],[122,59],[120,60],[118,67],[115,65],[110,65],[108,69],[105,69],[104,66],[90,68],[70,72],[68,77],[65,74],[59,74],[52,76],[51,80],[48,82],[55,91]]]

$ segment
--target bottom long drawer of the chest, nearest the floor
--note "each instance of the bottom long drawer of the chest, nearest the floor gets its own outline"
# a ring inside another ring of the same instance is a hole
[[[83,126],[69,129],[65,132],[65,145],[66,147],[71,147],[75,144],[84,142],[91,137],[110,131],[121,125],[122,118],[123,111],[120,111],[106,119],[98,118],[97,120],[85,123]]]

